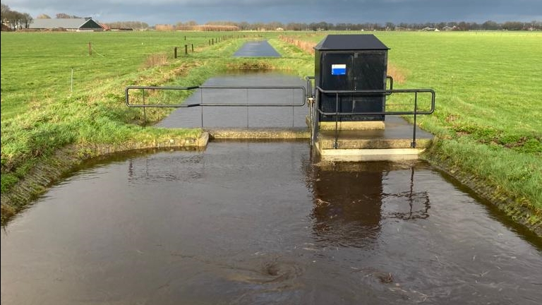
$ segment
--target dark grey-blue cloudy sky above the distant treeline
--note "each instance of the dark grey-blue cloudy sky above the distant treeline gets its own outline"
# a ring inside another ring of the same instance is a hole
[[[101,23],[149,25],[194,20],[248,23],[483,23],[542,20],[542,0],[2,0],[13,11],[36,17],[57,13]]]

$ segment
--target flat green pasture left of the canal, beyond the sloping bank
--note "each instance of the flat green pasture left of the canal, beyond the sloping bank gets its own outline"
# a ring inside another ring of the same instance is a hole
[[[218,40],[224,35],[227,34],[2,32],[1,118],[25,112],[30,104],[50,97],[58,99],[77,95],[94,90],[97,84],[105,80],[125,78],[140,72],[147,68],[146,61],[151,55],[160,54],[173,59],[174,47],[178,47],[180,58],[184,56],[185,44],[188,44],[191,52],[192,44],[198,50],[208,47],[209,40]],[[89,55],[89,42],[92,55]]]

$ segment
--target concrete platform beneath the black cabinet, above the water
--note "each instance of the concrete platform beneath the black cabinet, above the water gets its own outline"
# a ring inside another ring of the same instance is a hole
[[[386,116],[385,128],[341,130],[334,148],[335,131],[323,130],[316,149],[328,161],[416,160],[433,135],[416,127],[416,148],[411,147],[414,126],[400,116]]]

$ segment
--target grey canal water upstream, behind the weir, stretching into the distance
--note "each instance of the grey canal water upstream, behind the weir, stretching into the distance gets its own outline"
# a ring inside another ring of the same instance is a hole
[[[280,57],[267,42],[246,42],[234,57]],[[184,104],[221,104],[179,108],[158,122],[164,128],[294,128],[306,129],[306,81],[280,71],[229,71],[203,83]],[[266,87],[266,88],[212,88]],[[270,88],[275,87],[275,88]],[[283,88],[281,88],[283,87]],[[290,89],[284,88],[289,87]],[[243,104],[246,106],[227,106]],[[274,106],[257,106],[274,104]],[[224,106],[222,106],[224,105]]]

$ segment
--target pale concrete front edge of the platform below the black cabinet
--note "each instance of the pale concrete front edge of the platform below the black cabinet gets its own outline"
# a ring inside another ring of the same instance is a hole
[[[321,149],[316,148],[324,161],[404,161],[418,160],[423,148],[386,148],[386,149]]]

